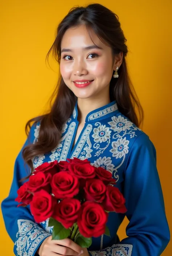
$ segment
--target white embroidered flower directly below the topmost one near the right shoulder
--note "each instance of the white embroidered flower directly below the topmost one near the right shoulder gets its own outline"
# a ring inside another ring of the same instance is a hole
[[[112,153],[112,157],[122,158],[126,154],[128,154],[128,144],[130,141],[126,140],[126,137],[124,139],[120,138],[117,141],[112,142],[112,149],[110,152]]]

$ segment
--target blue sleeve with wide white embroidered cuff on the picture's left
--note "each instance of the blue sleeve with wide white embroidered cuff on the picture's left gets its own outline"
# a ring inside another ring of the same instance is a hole
[[[33,142],[34,126],[31,127],[29,133],[29,141],[26,140],[23,148],[28,143]],[[22,150],[15,161],[13,181],[7,198],[1,203],[5,227],[12,241],[14,242],[14,253],[16,256],[34,256],[40,244],[50,233],[45,232],[40,225],[34,222],[33,216],[30,213],[29,206],[17,207],[15,202],[17,190],[23,184],[19,180],[26,177],[29,167],[24,166],[22,158]]]

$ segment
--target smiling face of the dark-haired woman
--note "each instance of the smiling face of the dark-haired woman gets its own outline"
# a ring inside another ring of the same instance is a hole
[[[97,98],[109,95],[113,70],[112,50],[91,30],[93,42],[84,25],[69,28],[61,42],[60,70],[69,89],[78,98]],[[92,81],[77,84],[75,81]],[[100,99],[100,98],[99,98]]]

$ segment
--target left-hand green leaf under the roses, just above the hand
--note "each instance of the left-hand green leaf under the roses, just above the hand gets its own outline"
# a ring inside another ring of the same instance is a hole
[[[52,240],[61,240],[68,236],[70,236],[70,229],[66,229],[60,222],[56,222],[53,227]]]

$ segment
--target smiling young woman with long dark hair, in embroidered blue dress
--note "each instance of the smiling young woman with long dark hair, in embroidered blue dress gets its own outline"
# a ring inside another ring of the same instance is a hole
[[[143,112],[128,77],[125,43],[118,16],[100,4],[73,8],[59,24],[48,53],[60,64],[55,100],[48,114],[26,124],[28,139],[16,158],[11,190],[1,206],[15,255],[158,256],[167,246],[169,227],[156,150],[139,128]],[[83,249],[70,239],[52,240],[48,220],[36,224],[29,206],[17,208],[25,163],[31,174],[44,162],[73,157],[112,173],[126,199],[127,238],[119,241],[116,235],[125,214],[111,212],[111,237],[95,238],[93,233],[92,245]]]

